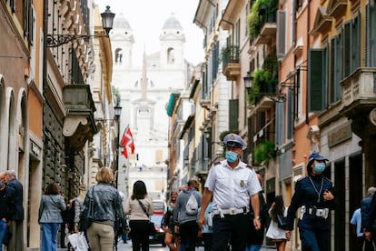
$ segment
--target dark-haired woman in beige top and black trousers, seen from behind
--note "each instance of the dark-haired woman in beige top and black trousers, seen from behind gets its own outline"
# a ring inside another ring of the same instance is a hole
[[[134,251],[149,250],[149,216],[153,215],[153,199],[148,195],[146,185],[142,180],[134,182],[132,196],[124,206],[124,212],[129,215],[130,236]]]

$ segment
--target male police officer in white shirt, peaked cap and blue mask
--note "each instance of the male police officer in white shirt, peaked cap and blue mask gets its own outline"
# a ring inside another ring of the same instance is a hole
[[[240,160],[246,144],[242,137],[229,134],[223,138],[225,160],[214,163],[205,182],[198,224],[205,224],[204,212],[213,196],[213,251],[226,250],[229,237],[233,251],[244,251],[250,200],[254,212],[253,225],[260,229],[258,192],[262,190],[256,173]]]

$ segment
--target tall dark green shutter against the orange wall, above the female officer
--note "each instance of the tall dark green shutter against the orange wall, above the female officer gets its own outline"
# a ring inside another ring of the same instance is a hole
[[[308,111],[322,112],[324,93],[324,51],[308,51]]]

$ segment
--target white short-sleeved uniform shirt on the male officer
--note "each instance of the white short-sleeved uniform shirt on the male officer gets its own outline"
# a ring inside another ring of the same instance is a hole
[[[205,187],[213,192],[214,209],[249,207],[250,196],[262,190],[252,169],[241,161],[233,169],[228,166],[227,160],[213,164]]]

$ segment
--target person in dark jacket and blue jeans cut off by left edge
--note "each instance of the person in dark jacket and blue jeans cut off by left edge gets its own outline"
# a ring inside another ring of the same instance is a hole
[[[8,226],[11,224],[12,215],[15,213],[15,203],[13,197],[15,189],[6,186],[5,173],[0,173],[0,251],[3,250],[5,238],[9,234]],[[7,240],[6,240],[7,241]]]

